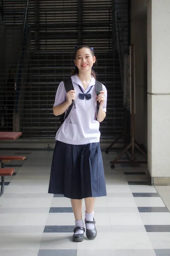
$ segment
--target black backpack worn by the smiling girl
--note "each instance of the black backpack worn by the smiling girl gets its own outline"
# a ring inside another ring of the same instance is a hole
[[[65,91],[66,91],[67,93],[68,93],[70,90],[74,90],[71,77],[69,77],[69,78],[63,80],[63,82],[64,82]],[[100,94],[100,91],[103,90],[102,83],[100,83],[99,81],[96,80],[96,81],[95,81],[95,87],[96,87],[96,95],[98,96],[98,95]],[[63,124],[63,122],[65,121],[65,119],[68,117],[68,115],[69,115],[71,109],[73,108],[73,105],[74,105],[74,107],[75,107],[74,100],[72,100],[72,103],[71,103],[71,105],[69,106],[67,113],[65,114],[65,112],[64,112],[62,115],[60,115],[59,120],[60,120],[60,122],[61,122],[61,125]],[[97,101],[97,107],[96,107],[96,113],[97,113],[97,115],[98,115],[98,113],[99,113],[99,106],[100,106],[100,103]],[[97,116],[97,115],[96,115],[96,116]],[[59,125],[59,127],[60,127],[61,125]],[[58,127],[58,129],[59,129],[59,127]],[[57,131],[58,131],[58,129],[57,129]],[[57,131],[55,132],[55,134],[57,133]]]

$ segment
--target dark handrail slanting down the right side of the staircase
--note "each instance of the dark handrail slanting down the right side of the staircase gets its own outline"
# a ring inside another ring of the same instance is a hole
[[[118,52],[119,52],[119,65],[120,65],[121,82],[122,82],[122,90],[123,90],[123,59],[122,59],[122,49],[120,45],[120,32],[119,32],[117,12],[115,12],[115,22],[116,22],[116,38],[117,38],[117,45],[118,45]]]

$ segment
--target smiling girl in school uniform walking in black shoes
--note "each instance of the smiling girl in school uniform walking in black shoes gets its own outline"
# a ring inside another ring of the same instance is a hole
[[[66,93],[62,81],[53,107],[54,115],[58,116],[67,111],[72,100],[76,106],[57,131],[48,190],[71,198],[75,217],[73,241],[84,240],[82,199],[85,198],[86,236],[95,239],[95,197],[106,195],[99,122],[106,116],[107,90],[102,84],[103,90],[96,96],[96,75],[92,70],[95,62],[93,49],[86,45],[77,47],[71,76],[74,90]],[[96,116],[97,101],[100,107]]]

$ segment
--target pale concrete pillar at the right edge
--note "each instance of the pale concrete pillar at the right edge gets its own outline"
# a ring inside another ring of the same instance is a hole
[[[170,185],[170,0],[147,5],[148,171]]]

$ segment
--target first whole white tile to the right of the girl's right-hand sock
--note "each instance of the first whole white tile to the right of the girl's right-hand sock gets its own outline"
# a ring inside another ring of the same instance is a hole
[[[142,219],[139,213],[135,212],[117,212],[109,213],[111,225],[142,225]]]

